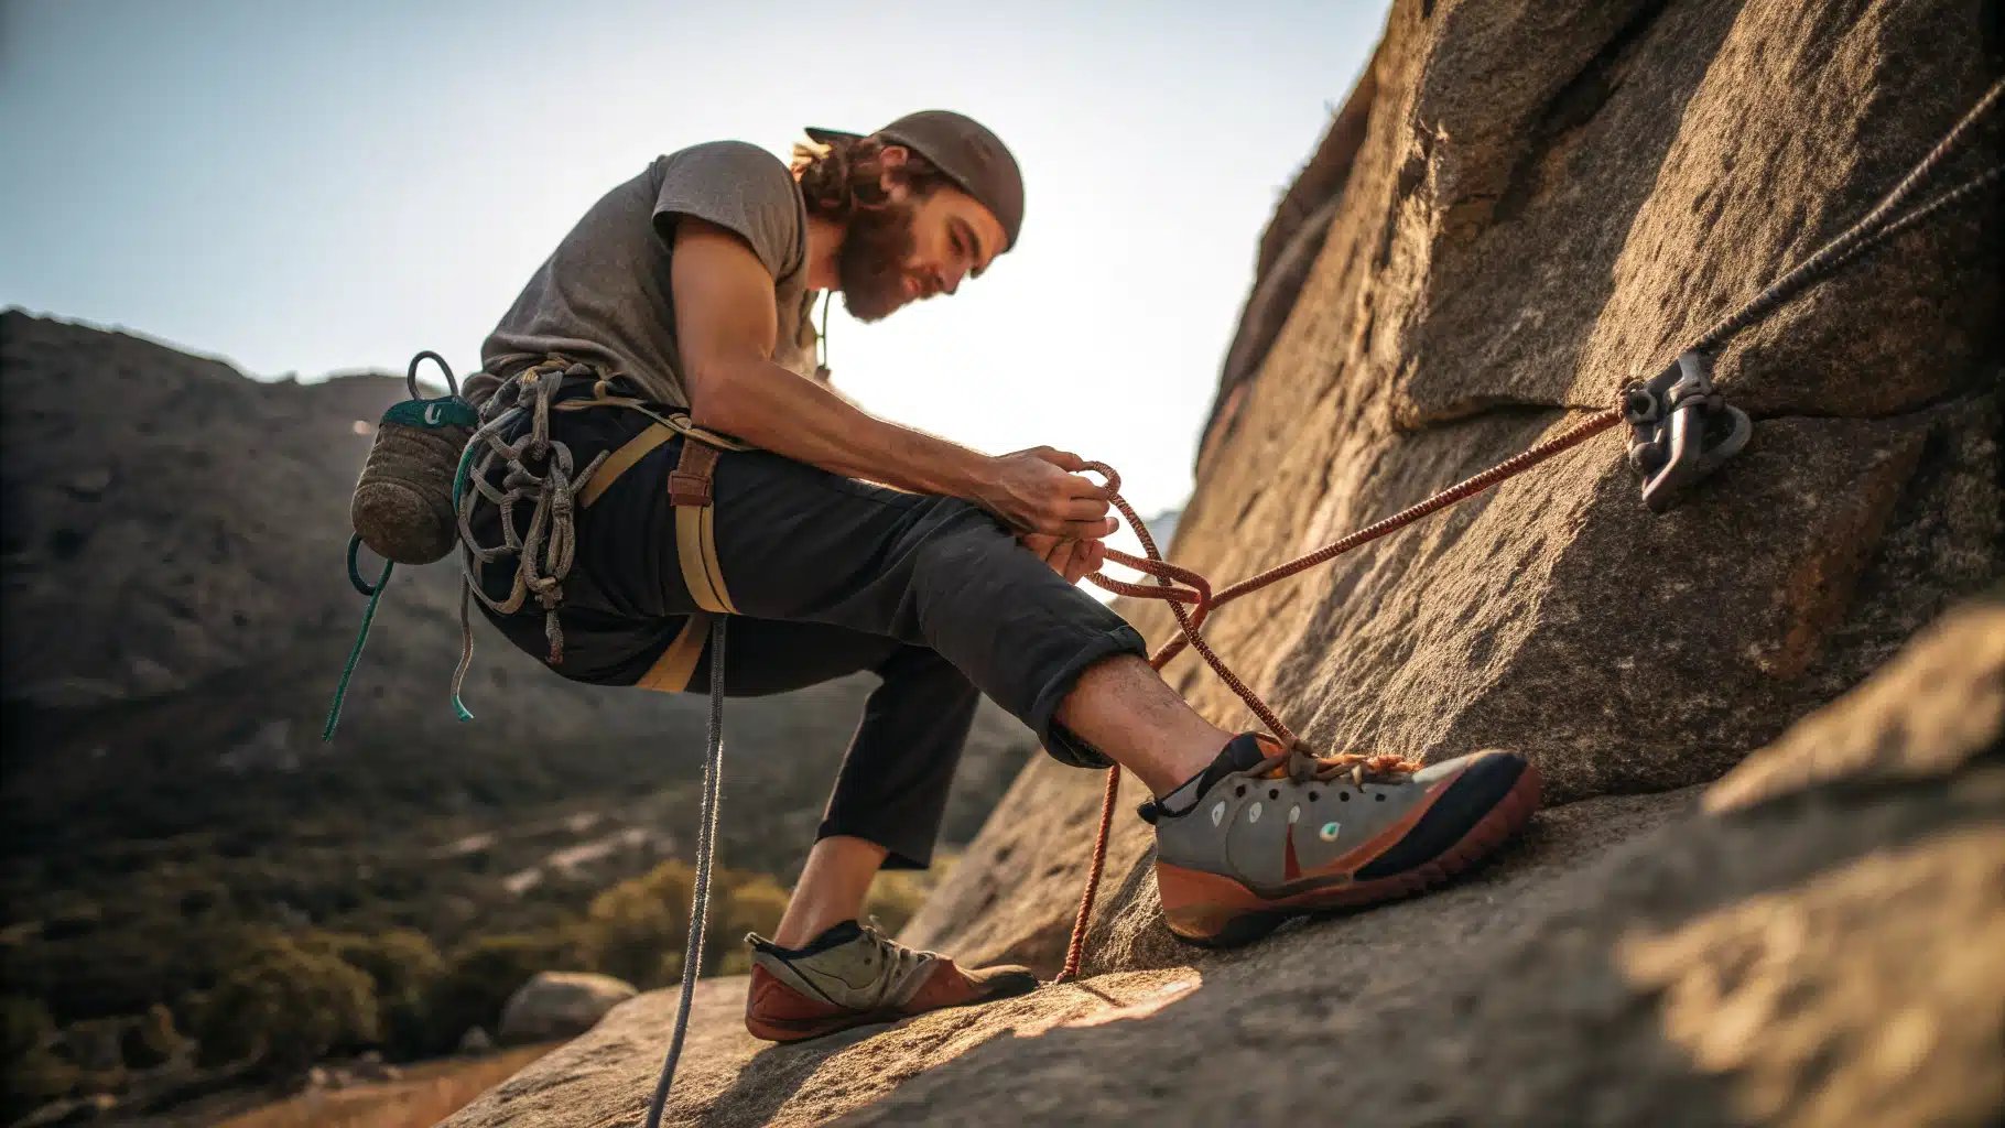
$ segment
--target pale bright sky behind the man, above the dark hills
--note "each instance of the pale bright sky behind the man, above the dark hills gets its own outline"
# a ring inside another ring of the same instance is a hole
[[[1053,445],[1177,507],[1279,192],[1379,0],[678,4],[0,0],[0,307],[247,375],[457,371],[656,154],[918,108],[1027,180],[1019,248],[858,325],[834,383],[1005,453]],[[1119,547],[1125,541],[1117,537]]]

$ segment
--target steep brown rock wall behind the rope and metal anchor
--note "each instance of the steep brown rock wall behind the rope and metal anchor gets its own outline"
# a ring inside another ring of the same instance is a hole
[[[1261,244],[1167,555],[1221,587],[1610,407],[1871,208],[1999,52],[1997,20],[1947,0],[1393,4]],[[1995,164],[2001,136],[1939,184]],[[1989,204],[1732,341],[1716,377],[1754,439],[1674,511],[1642,507],[1604,433],[1241,599],[1207,637],[1323,747],[1514,747],[1548,801],[1716,779],[2005,573]],[[1161,605],[1121,607],[1157,643],[1175,631]],[[1165,675],[1255,723],[1195,655]],[[1055,970],[1099,789],[1033,761],[912,940]],[[1147,908],[1143,797],[1129,779],[1103,924]]]

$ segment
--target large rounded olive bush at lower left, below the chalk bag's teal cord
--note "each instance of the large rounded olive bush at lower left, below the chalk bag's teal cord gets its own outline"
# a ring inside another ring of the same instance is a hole
[[[337,1046],[375,1042],[375,992],[317,944],[265,938],[209,992],[200,1038],[205,1060],[251,1058],[267,1074],[293,1074]]]

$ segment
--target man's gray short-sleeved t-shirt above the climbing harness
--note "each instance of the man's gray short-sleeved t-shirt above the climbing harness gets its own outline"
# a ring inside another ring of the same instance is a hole
[[[648,399],[690,407],[670,287],[676,220],[686,214],[752,244],[774,278],[772,359],[812,379],[808,210],[786,164],[740,140],[658,156],[591,204],[481,345],[485,371],[561,353],[632,377]]]

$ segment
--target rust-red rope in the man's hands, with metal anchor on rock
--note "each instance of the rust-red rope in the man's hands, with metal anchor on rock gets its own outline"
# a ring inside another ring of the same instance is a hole
[[[1171,613],[1177,617],[1179,635],[1157,649],[1149,657],[1149,665],[1163,669],[1163,665],[1183,653],[1185,647],[1195,649],[1205,663],[1211,665],[1219,679],[1225,681],[1225,685],[1231,687],[1231,691],[1237,693],[1249,709],[1253,709],[1253,715],[1257,715],[1261,723],[1265,723],[1273,735],[1281,739],[1283,747],[1297,747],[1301,741],[1295,733],[1283,725],[1273,709],[1269,709],[1257,693],[1239,681],[1239,677],[1235,677],[1233,671],[1219,661],[1217,653],[1213,653],[1205,643],[1201,627],[1211,611],[1217,611],[1241,595],[1259,591],[1269,583],[1331,561],[1359,545],[1385,537],[1387,533],[1395,533],[1397,529],[1404,529],[1438,509],[1476,497],[1504,479],[1516,477],[1624,421],[1632,429],[1628,463],[1642,479],[1644,505],[1652,513],[1664,513],[1676,503],[1682,491],[1690,489],[1726,463],[1726,459],[1740,453],[1752,437],[1754,427],[1748,415],[1738,407],[1728,405],[1720,391],[1712,385],[1712,357],[1720,351],[1720,347],[1724,347],[1740,331],[1768,317],[1784,301],[1796,297],[1823,278],[1829,278],[1843,266],[1855,262],[1859,256],[1885,244],[1895,234],[1913,228],[1929,216],[1941,214],[1945,208],[1975,198],[1987,186],[2005,178],[2005,164],[1993,164],[1955,188],[1927,202],[1915,204],[1905,212],[1901,210],[1903,204],[1907,204],[1909,198],[1913,198],[1915,192],[1919,192],[1935,176],[1937,168],[1969,142],[1979,118],[1989,114],[1999,104],[2001,96],[2005,96],[2005,80],[1993,82],[1977,104],[1963,116],[1963,120],[1959,120],[1943,136],[1943,140],[1939,140],[1935,148],[1931,148],[1929,154],[1923,156],[1921,162],[1915,164],[1915,168],[1909,170],[1909,174],[1903,176],[1901,182],[1895,184],[1859,222],[1833,236],[1800,264],[1770,283],[1762,293],[1754,295],[1746,305],[1720,319],[1720,323],[1706,331],[1706,335],[1700,337],[1690,349],[1680,351],[1678,357],[1656,377],[1622,389],[1620,407],[1598,411],[1530,451],[1506,459],[1472,479],[1456,483],[1420,505],[1401,509],[1399,513],[1331,541],[1321,549],[1243,579],[1217,595],[1211,593],[1211,585],[1205,577],[1191,569],[1163,561],[1149,529],[1141,523],[1135,509],[1121,497],[1121,477],[1105,463],[1087,463],[1089,469],[1107,479],[1109,501],[1121,509],[1121,515],[1127,519],[1129,527],[1135,529],[1135,535],[1141,539],[1143,551],[1147,553],[1145,557],[1135,557],[1117,549],[1107,549],[1107,559],[1143,575],[1151,575],[1155,577],[1155,583],[1127,583],[1109,579],[1101,573],[1089,575],[1087,579],[1117,595],[1167,601]],[[1375,769],[1371,757],[1359,753],[1321,755],[1315,759],[1329,763],[1333,769],[1359,765],[1367,771]],[[1115,765],[1107,769],[1107,789],[1101,797],[1101,825],[1093,839],[1093,856],[1087,864],[1087,880],[1079,898],[1079,914],[1073,918],[1073,938],[1067,944],[1065,968],[1059,972],[1055,982],[1079,978],[1079,966],[1085,958],[1087,932],[1093,924],[1093,902],[1099,896],[1101,876],[1107,868],[1107,839],[1113,831],[1115,803],[1119,801],[1119,795],[1121,767]]]

